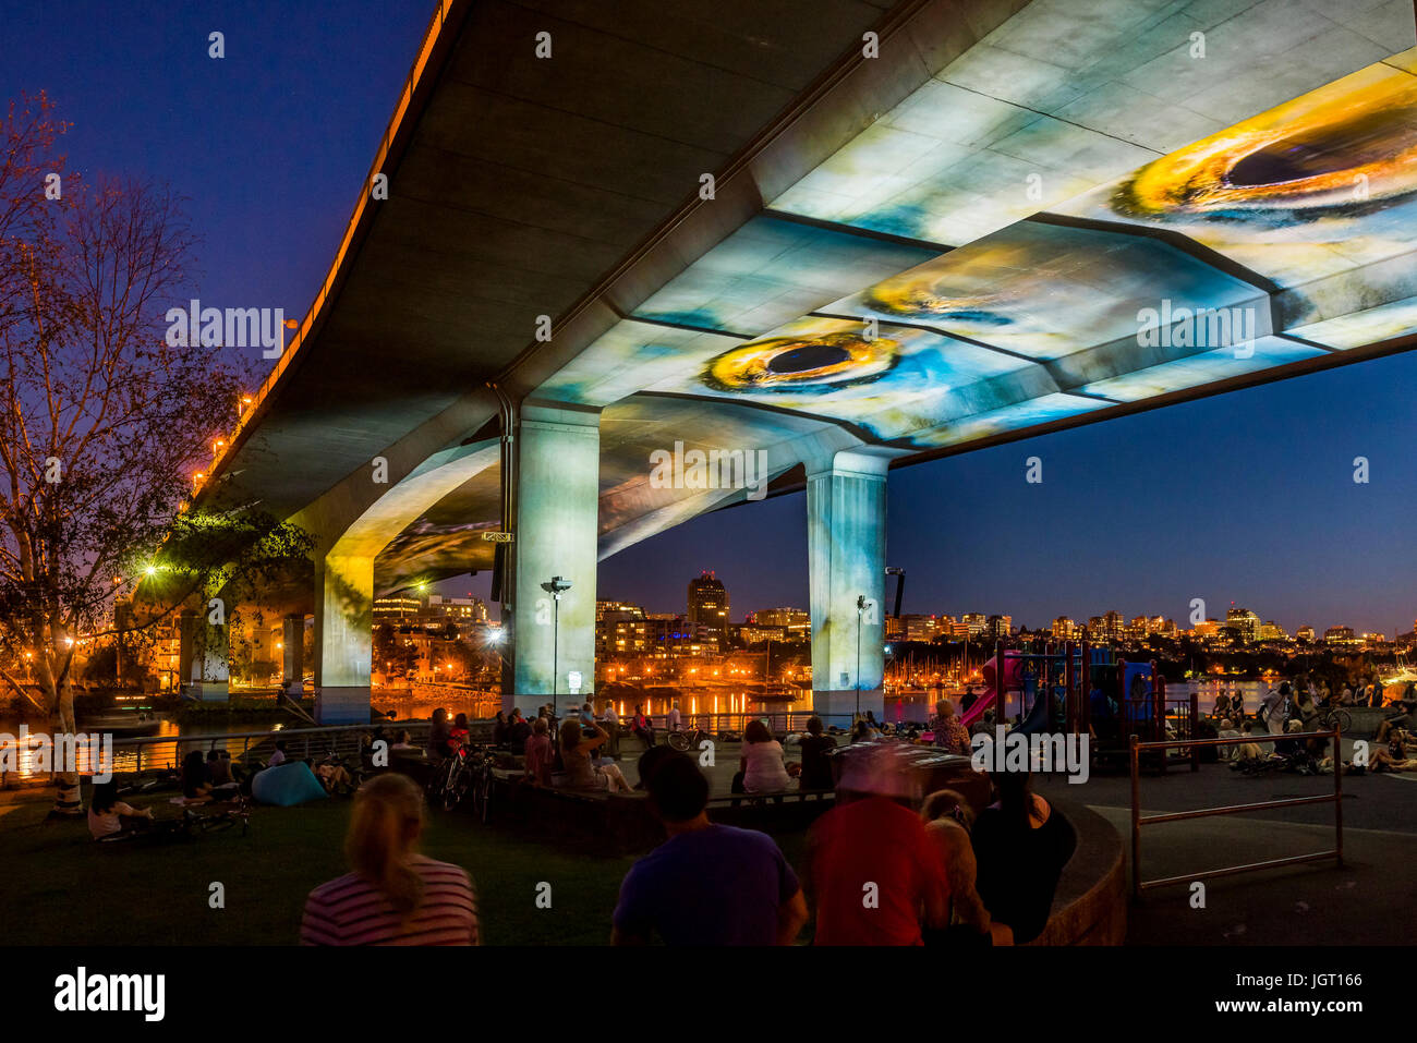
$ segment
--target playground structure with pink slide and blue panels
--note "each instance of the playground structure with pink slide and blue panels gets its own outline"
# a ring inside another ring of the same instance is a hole
[[[1155,662],[1129,662],[1105,645],[1047,641],[1005,649],[999,641],[982,673],[985,692],[961,714],[965,727],[993,710],[996,723],[1012,721],[1026,735],[1091,735],[1094,760],[1119,765],[1128,758],[1132,737],[1148,744],[1197,737],[1195,693],[1169,699]],[[1165,771],[1168,764],[1189,762],[1192,771],[1199,768],[1195,745],[1152,750],[1156,755],[1148,758],[1149,767]]]

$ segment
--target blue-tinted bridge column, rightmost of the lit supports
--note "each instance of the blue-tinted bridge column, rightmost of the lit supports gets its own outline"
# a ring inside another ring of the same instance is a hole
[[[820,714],[884,714],[887,463],[845,451],[808,473],[812,706]]]

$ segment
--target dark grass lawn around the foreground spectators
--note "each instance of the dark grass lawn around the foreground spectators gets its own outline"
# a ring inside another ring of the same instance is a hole
[[[82,818],[45,822],[51,802],[52,791],[0,798],[0,944],[290,945],[305,896],[347,869],[347,799],[256,808],[247,836],[235,828],[116,845],[94,842]],[[162,801],[135,804],[177,812]],[[777,839],[798,864],[802,833]],[[429,812],[422,852],[472,874],[486,945],[606,944],[635,860],[456,812]],[[225,908],[208,906],[214,881],[225,887]],[[551,884],[551,908],[536,907],[540,881]]]

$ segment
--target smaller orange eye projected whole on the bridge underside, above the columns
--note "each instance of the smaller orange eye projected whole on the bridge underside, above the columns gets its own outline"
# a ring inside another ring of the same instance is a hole
[[[716,391],[833,391],[879,380],[898,359],[900,344],[888,337],[768,337],[711,360],[704,383]]]

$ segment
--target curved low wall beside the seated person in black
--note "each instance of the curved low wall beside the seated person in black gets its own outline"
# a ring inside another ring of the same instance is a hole
[[[1112,825],[1081,804],[1049,796],[1073,830],[1053,913],[1029,945],[1121,945],[1127,938],[1127,860]]]

